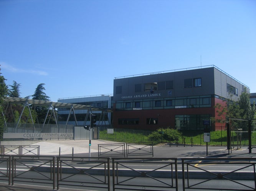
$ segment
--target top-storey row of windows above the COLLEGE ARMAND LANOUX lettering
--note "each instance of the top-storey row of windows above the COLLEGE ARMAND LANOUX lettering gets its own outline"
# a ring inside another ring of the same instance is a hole
[[[194,78],[194,79],[185,79],[184,87],[201,87],[202,79]],[[173,80],[171,81],[161,81],[161,82],[152,82],[143,84],[135,84],[135,92],[154,92],[156,90],[166,90],[173,89]],[[116,94],[122,94],[122,86],[116,86]]]

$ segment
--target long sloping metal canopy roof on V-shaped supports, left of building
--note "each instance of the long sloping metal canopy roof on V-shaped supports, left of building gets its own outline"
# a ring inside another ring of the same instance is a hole
[[[74,110],[92,110],[92,111],[107,111],[112,112],[112,108],[106,107],[93,107],[91,105],[79,105],[79,104],[68,104],[68,103],[61,103],[61,102],[51,102],[51,101],[42,101],[42,100],[35,100],[35,99],[25,99],[19,97],[5,97],[3,99],[5,102],[9,102],[10,104],[24,104],[27,103],[33,106],[49,106],[55,108],[71,108],[73,107]]]

